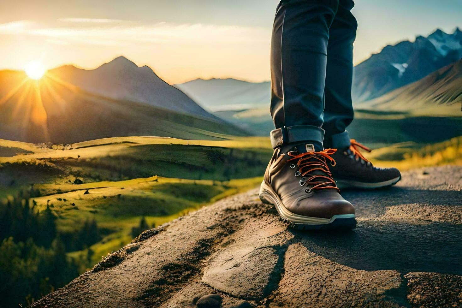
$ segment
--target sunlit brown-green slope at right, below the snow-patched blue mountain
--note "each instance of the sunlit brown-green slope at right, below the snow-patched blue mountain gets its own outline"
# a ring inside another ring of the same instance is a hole
[[[358,109],[406,111],[413,115],[461,115],[462,60],[382,97],[356,105]]]

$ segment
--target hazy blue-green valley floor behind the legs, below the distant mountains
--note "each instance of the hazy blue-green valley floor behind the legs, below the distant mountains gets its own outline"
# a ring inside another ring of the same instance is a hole
[[[435,107],[435,108],[442,108]],[[274,124],[269,109],[221,111],[215,113],[257,136],[269,136]],[[453,116],[429,113],[416,116],[404,111],[355,110],[348,127],[351,138],[373,148],[406,141],[435,143],[462,135],[462,112]]]

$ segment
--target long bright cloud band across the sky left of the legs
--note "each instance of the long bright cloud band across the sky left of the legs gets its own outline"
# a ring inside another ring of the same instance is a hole
[[[0,24],[0,34],[43,36],[61,43],[80,42],[108,46],[126,43],[169,42],[170,44],[258,44],[269,40],[271,29],[215,24],[140,24],[115,19],[61,18],[72,26],[48,27],[30,21]],[[98,20],[97,22],[93,22]],[[104,21],[103,21],[104,20]],[[86,23],[94,23],[89,26]]]

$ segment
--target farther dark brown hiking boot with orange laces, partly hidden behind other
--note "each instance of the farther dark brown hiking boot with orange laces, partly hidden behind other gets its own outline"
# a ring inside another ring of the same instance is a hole
[[[380,188],[395,185],[401,180],[401,173],[396,168],[376,168],[359,151],[359,148],[371,152],[371,149],[350,140],[351,145],[337,151],[332,157],[336,165],[330,170],[340,188]]]

